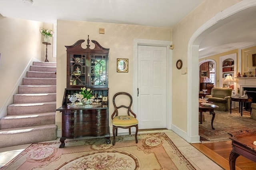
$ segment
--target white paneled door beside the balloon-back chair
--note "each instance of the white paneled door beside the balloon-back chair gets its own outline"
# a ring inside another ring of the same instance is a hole
[[[139,129],[166,128],[166,47],[138,45]]]

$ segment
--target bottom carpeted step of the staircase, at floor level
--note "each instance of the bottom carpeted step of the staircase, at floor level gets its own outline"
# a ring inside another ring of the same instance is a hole
[[[0,130],[0,148],[57,139],[55,124]]]

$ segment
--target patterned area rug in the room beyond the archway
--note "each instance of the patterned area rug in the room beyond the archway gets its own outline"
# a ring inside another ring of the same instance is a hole
[[[215,119],[213,127],[211,127],[212,115],[204,112],[205,121],[199,123],[199,135],[202,143],[212,143],[230,140],[228,133],[239,130],[256,129],[256,120],[250,118],[250,112],[243,111],[243,116],[237,110],[230,111],[214,111]]]

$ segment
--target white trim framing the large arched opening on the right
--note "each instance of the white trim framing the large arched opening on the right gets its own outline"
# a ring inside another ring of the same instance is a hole
[[[199,125],[198,125],[198,63],[199,63],[199,45],[201,40],[207,36],[218,22],[246,8],[256,6],[256,1],[241,1],[237,4],[219,12],[212,19],[199,27],[188,42],[188,104],[187,104],[187,141],[190,143],[200,143]],[[214,25],[214,26],[213,26]],[[193,78],[192,78],[193,76]]]

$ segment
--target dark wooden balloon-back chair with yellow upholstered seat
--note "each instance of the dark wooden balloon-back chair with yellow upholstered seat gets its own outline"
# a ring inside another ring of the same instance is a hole
[[[128,96],[130,98],[130,104],[129,106],[116,106],[116,97],[120,95]],[[118,92],[114,95],[113,97],[113,104],[115,107],[114,112],[111,115],[112,118],[112,125],[113,125],[113,145],[115,145],[115,138],[117,136],[117,129],[118,128],[123,128],[123,129],[129,129],[129,134],[131,135],[131,127],[136,128],[135,132],[135,141],[138,143],[137,139],[137,134],[138,134],[138,120],[136,119],[136,114],[132,111],[131,106],[132,106],[132,96],[126,92]],[[126,108],[127,114],[124,115],[124,113],[120,113],[121,110],[118,110],[120,108]],[[118,111],[120,115],[118,115]]]

